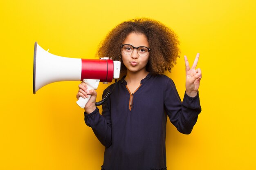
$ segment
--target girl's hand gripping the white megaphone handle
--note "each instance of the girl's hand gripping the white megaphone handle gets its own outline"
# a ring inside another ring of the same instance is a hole
[[[84,107],[85,113],[90,114],[96,109],[96,97],[97,92],[94,89],[87,90],[87,84],[85,82],[81,82],[81,84],[78,85],[79,91],[76,94],[76,99],[79,99],[79,97],[88,98],[88,95],[92,95],[87,104]]]

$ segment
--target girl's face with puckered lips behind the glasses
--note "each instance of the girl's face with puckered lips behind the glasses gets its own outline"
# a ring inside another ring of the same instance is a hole
[[[123,44],[130,44],[135,47],[131,54],[126,55],[123,50],[121,50],[122,60],[127,68],[127,72],[140,72],[146,71],[146,65],[149,59],[149,53],[146,56],[139,56],[136,47],[144,46],[149,48],[148,40],[146,35],[141,33],[130,33],[127,35]],[[128,48],[128,50],[130,50]],[[144,52],[144,49],[139,49],[140,52]]]

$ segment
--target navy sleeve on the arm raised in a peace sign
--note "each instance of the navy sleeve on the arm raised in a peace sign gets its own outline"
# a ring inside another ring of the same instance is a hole
[[[169,79],[165,88],[164,105],[171,123],[177,130],[190,134],[201,112],[199,95],[189,97],[185,93],[183,102],[181,102],[175,84]]]

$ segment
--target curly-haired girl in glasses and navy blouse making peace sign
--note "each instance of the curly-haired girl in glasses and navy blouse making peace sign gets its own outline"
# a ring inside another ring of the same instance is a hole
[[[160,22],[135,19],[117,25],[107,35],[98,55],[121,61],[125,75],[103,104],[102,115],[95,106],[97,93],[79,84],[76,98],[92,95],[85,106],[85,123],[106,149],[101,170],[166,170],[167,116],[177,130],[190,134],[201,112],[198,88],[202,74],[185,58],[186,92],[183,102],[171,71],[179,55],[177,35]]]

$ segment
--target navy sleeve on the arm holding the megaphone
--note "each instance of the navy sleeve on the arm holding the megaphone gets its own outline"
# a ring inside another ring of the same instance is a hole
[[[103,95],[106,94],[106,91],[104,91]],[[85,115],[85,124],[87,126],[90,126],[96,135],[96,137],[99,139],[101,144],[108,148],[111,143],[111,115],[110,110],[108,108],[108,102],[102,105],[103,112],[102,115],[99,113],[99,109],[96,108],[92,113]]]

